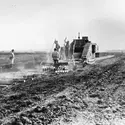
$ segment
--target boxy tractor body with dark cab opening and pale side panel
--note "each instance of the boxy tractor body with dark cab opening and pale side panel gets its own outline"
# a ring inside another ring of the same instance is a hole
[[[90,61],[95,59],[97,48],[97,44],[89,41],[87,36],[78,37],[70,44],[70,53],[76,61]]]

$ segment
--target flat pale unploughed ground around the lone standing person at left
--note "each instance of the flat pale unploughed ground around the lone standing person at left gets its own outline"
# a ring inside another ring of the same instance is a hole
[[[9,57],[10,53],[0,53],[0,85],[6,84],[13,78],[40,73],[40,63],[47,60],[45,52],[15,53],[15,64],[11,68]]]

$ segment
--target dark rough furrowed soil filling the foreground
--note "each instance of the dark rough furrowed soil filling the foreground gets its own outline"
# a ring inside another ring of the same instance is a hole
[[[0,124],[125,125],[125,56],[15,79],[0,91]]]

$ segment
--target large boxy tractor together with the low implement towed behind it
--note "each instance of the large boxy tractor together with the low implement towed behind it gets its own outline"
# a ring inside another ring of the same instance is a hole
[[[66,54],[68,56],[66,57]],[[51,54],[50,54],[51,55]],[[86,64],[91,64],[95,61],[95,57],[99,56],[98,46],[88,40],[87,36],[74,39],[69,47],[61,47],[60,57],[61,58],[57,65],[53,64],[53,61],[42,62],[43,71],[54,71],[54,72],[68,72],[73,70],[77,65],[84,67]],[[51,58],[51,56],[49,57]]]

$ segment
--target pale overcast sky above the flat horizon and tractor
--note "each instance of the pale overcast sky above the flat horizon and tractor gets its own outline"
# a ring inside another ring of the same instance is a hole
[[[0,51],[51,51],[88,36],[100,51],[125,49],[124,0],[0,0]]]

